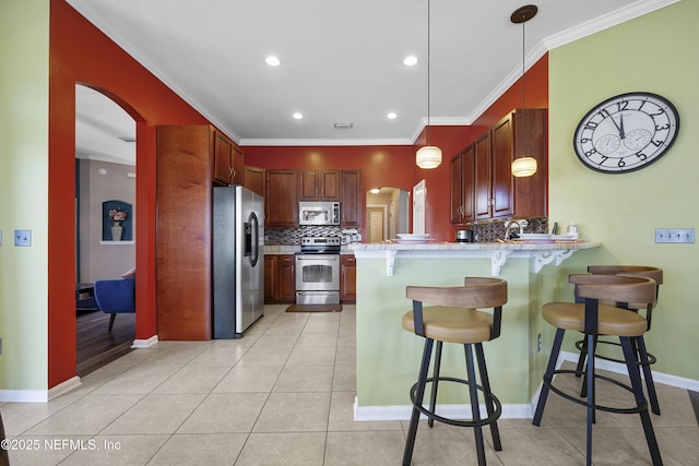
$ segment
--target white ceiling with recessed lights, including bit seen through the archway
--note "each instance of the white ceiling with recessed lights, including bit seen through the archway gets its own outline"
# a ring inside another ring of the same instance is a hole
[[[521,0],[431,0],[429,60],[427,0],[67,1],[246,146],[413,144],[428,116],[472,123],[521,75],[523,45],[529,68],[677,0],[540,0],[524,40],[510,21]],[[133,153],[133,120],[94,94],[78,93],[79,156]]]

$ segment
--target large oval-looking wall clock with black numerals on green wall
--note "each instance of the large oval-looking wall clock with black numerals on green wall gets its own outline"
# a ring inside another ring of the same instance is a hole
[[[573,147],[588,168],[624,174],[657,160],[675,142],[678,129],[679,115],[666,98],[642,92],[621,94],[580,120]]]

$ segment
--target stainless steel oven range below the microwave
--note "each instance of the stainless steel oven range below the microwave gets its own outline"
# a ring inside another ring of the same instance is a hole
[[[296,254],[296,303],[340,302],[340,238],[304,237]]]

